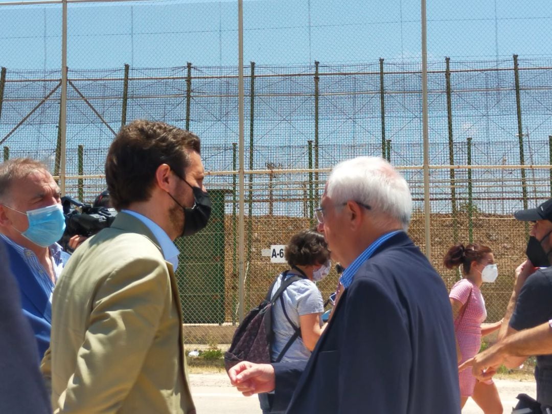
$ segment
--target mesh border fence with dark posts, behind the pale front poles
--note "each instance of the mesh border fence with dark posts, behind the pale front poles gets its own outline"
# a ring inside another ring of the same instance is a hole
[[[500,275],[482,289],[495,320],[505,310],[528,237],[512,212],[552,196],[551,63],[518,56],[431,62],[428,184],[420,64],[384,59],[362,65],[251,62],[244,74],[241,154],[236,67],[68,69],[65,99],[60,71],[3,67],[0,144],[4,160],[44,160],[67,194],[91,201],[104,189],[105,155],[121,125],[147,118],[197,133],[216,208],[207,229],[178,242],[189,324],[238,322],[283,269],[262,250],[315,224],[331,167],[354,156],[383,156],[411,187],[409,233],[422,250],[430,235],[430,259],[448,287],[459,277],[442,265],[450,245],[477,241],[495,251]],[[323,296],[336,280],[332,272],[320,282]]]

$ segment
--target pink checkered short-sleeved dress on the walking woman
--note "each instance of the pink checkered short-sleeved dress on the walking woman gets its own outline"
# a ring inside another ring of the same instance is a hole
[[[481,348],[481,323],[487,317],[485,301],[479,287],[468,279],[457,282],[450,290],[449,297],[464,304],[460,315],[454,321],[454,330],[462,353],[461,362],[464,362],[474,357]],[[468,303],[467,306],[466,303]],[[473,395],[477,380],[471,375],[471,369],[462,371],[459,374],[459,380],[460,395],[463,397]]]

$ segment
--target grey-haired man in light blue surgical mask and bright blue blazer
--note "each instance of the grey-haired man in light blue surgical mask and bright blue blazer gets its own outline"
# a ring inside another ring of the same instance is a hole
[[[40,358],[50,343],[54,285],[69,257],[56,243],[63,230],[60,188],[46,166],[28,158],[0,164],[0,243]]]

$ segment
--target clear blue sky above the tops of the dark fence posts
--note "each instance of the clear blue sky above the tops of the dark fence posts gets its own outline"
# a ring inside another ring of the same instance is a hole
[[[3,2],[0,1],[0,2]],[[420,60],[419,0],[246,0],[244,60]],[[428,1],[430,60],[552,55],[552,2]],[[310,22],[310,24],[309,24]],[[68,66],[237,65],[237,2],[69,4]],[[61,6],[0,6],[0,65],[56,69]]]

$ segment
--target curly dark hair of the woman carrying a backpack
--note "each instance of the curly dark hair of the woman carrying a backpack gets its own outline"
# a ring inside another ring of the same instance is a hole
[[[322,234],[307,229],[291,236],[284,257],[290,266],[322,264],[330,259],[330,250]]]

